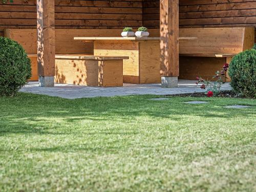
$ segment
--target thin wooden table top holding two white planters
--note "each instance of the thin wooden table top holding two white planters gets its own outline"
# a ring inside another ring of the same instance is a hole
[[[74,37],[75,40],[131,40],[131,41],[145,41],[145,40],[157,40],[160,41],[160,37]],[[179,40],[193,40],[197,37],[179,37]]]

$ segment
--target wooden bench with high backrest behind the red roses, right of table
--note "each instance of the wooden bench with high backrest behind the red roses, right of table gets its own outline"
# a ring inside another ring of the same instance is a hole
[[[254,44],[253,27],[180,29],[180,36],[198,37],[179,42],[182,79],[211,79],[224,63]]]

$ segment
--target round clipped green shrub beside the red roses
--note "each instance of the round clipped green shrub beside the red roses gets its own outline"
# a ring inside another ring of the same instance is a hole
[[[228,75],[234,92],[246,97],[256,97],[256,50],[246,50],[234,56]]]

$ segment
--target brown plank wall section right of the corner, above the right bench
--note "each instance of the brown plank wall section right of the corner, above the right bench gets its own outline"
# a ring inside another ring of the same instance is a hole
[[[256,0],[180,0],[179,4],[180,28],[256,27]],[[143,25],[159,28],[159,0],[143,2]]]

